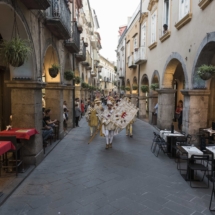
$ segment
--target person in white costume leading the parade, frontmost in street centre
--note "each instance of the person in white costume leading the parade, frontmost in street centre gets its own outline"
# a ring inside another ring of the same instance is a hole
[[[111,115],[114,113],[113,104],[110,100],[107,102],[108,108],[102,114],[102,123],[103,123],[103,134],[106,137],[106,149],[112,148],[114,131],[116,129],[115,125],[110,121]]]

